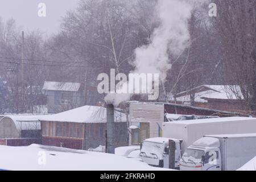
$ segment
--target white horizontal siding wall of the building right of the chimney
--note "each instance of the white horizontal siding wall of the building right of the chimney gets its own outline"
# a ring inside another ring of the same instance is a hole
[[[163,104],[130,104],[130,122],[150,122],[150,138],[159,137],[158,124],[164,122]]]

